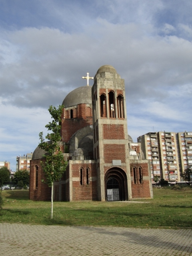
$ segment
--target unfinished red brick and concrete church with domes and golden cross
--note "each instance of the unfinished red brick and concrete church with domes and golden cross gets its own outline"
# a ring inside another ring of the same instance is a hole
[[[148,160],[128,135],[124,79],[109,65],[98,69],[93,86],[88,73],[86,79],[62,103],[59,144],[68,166],[54,182],[54,200],[152,198]],[[32,200],[51,199],[51,188],[41,181],[45,153],[37,147],[30,161]]]

